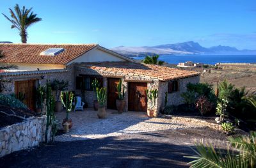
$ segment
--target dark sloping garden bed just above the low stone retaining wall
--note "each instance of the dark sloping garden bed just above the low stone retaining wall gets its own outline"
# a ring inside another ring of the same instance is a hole
[[[15,109],[12,107],[8,107],[6,105],[0,105],[0,111],[5,112],[6,114],[15,114],[16,116],[20,116],[22,118],[29,118],[32,116],[40,116],[40,114],[29,111],[29,109]],[[15,123],[20,123],[24,119],[17,118],[15,116],[7,116],[6,114],[0,113],[0,128],[4,126],[13,125]]]

